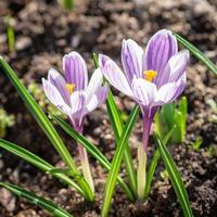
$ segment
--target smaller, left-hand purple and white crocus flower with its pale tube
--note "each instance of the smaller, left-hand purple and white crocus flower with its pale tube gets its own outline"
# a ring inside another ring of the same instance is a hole
[[[75,130],[82,132],[84,117],[104,103],[108,87],[103,85],[100,68],[88,84],[87,65],[77,52],[64,55],[63,72],[61,75],[51,68],[48,79],[42,79],[43,90],[50,102],[68,116]],[[82,163],[84,158],[87,161],[87,153],[80,145],[78,148]]]

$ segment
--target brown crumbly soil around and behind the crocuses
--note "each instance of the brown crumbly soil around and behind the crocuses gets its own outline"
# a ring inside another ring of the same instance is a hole
[[[25,85],[41,82],[52,66],[61,71],[62,56],[72,50],[82,54],[92,72],[91,52],[106,53],[120,60],[124,38],[132,38],[144,47],[152,34],[169,28],[182,35],[208,58],[217,62],[217,1],[215,0],[135,0],[75,1],[73,12],[66,12],[52,0],[0,1],[0,53],[9,61]],[[15,52],[7,46],[4,17],[14,18]],[[196,217],[214,217],[217,213],[217,125],[210,120],[213,111],[207,100],[217,102],[217,79],[205,66],[191,59],[188,69],[188,87],[184,94],[189,102],[186,142],[170,145],[169,150],[178,165]],[[117,94],[117,92],[115,91]],[[128,114],[135,103],[118,93],[116,101]],[[54,149],[24,106],[8,78],[0,75],[0,106],[16,117],[16,124],[8,129],[4,139],[40,155],[54,165],[62,165]],[[62,138],[78,161],[76,144],[59,129]],[[139,119],[130,144],[133,155],[141,142],[142,125]],[[111,159],[114,154],[114,137],[105,106],[92,112],[86,122],[85,135],[94,141]],[[201,138],[200,150],[192,143]],[[154,143],[149,148],[149,159]],[[0,181],[10,181],[51,199],[77,217],[98,217],[103,199],[106,171],[90,157],[95,182],[95,202],[87,203],[74,190],[26,164],[12,154],[0,150]],[[116,188],[111,217],[132,216],[182,216],[176,194],[161,163],[148,202],[130,203],[119,187]],[[122,171],[124,174],[124,169]],[[1,217],[46,217],[47,212],[0,190]]]

